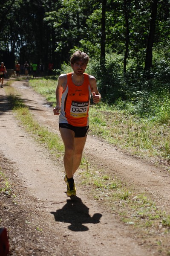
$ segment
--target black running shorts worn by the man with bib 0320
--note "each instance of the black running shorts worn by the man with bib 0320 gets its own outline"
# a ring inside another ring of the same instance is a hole
[[[75,138],[81,138],[87,136],[89,132],[89,126],[73,126],[65,123],[59,124],[60,128],[70,129],[75,132]]]

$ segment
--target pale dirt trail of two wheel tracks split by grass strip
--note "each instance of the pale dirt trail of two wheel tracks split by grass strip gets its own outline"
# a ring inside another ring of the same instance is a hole
[[[35,93],[27,81],[14,81],[12,86],[18,90],[35,119],[59,134],[58,116],[53,115],[45,99]],[[49,152],[18,125],[3,89],[0,90],[0,131],[0,152],[12,162],[15,175],[23,184],[24,193],[39,202],[36,204],[39,214],[43,206],[43,221],[46,223],[43,230],[51,234],[51,241],[54,237],[58,238],[52,243],[51,251],[47,249],[48,239],[43,237],[43,252],[32,249],[34,253],[25,251],[22,255],[160,255],[156,248],[144,246],[142,238],[134,236],[130,227],[120,223],[114,214],[102,209],[85,189],[83,191],[77,187],[75,200],[66,197],[62,161],[54,162]],[[169,204],[170,175],[163,168],[130,157],[93,136],[88,136],[84,154],[91,164],[98,165],[112,176],[118,176],[138,192],[150,194],[165,207]],[[76,178],[79,177],[75,175],[75,182]],[[11,255],[21,254],[13,251]]]

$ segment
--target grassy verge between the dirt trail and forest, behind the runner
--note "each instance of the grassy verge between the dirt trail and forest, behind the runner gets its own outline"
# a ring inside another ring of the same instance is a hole
[[[49,104],[55,106],[57,81],[31,79],[30,85],[45,96]],[[102,102],[91,105],[89,108],[90,134],[101,137],[137,157],[154,158],[157,163],[162,161],[169,163],[170,126],[169,123],[163,122],[167,120],[169,109],[166,107],[167,102],[165,103],[162,104],[161,113],[157,110],[157,117],[161,122],[150,118],[139,118],[127,110],[117,110]]]

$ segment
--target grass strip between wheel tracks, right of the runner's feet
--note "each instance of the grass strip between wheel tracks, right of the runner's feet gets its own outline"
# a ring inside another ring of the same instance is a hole
[[[161,227],[161,232],[170,232],[170,215],[163,209],[158,209],[156,203],[146,195],[136,194],[133,188],[122,183],[117,177],[102,173],[104,170],[98,172],[92,168],[90,171],[78,171],[81,185],[91,190],[96,200],[119,215],[124,223],[133,225],[135,229],[140,227],[145,235],[149,230],[158,233],[158,227]]]

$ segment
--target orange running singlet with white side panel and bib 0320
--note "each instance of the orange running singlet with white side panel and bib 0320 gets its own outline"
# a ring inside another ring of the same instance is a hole
[[[81,86],[73,84],[72,73],[68,73],[66,89],[63,90],[61,99],[59,123],[67,123],[73,126],[88,126],[91,93],[89,76],[86,73],[84,73],[84,83]]]

